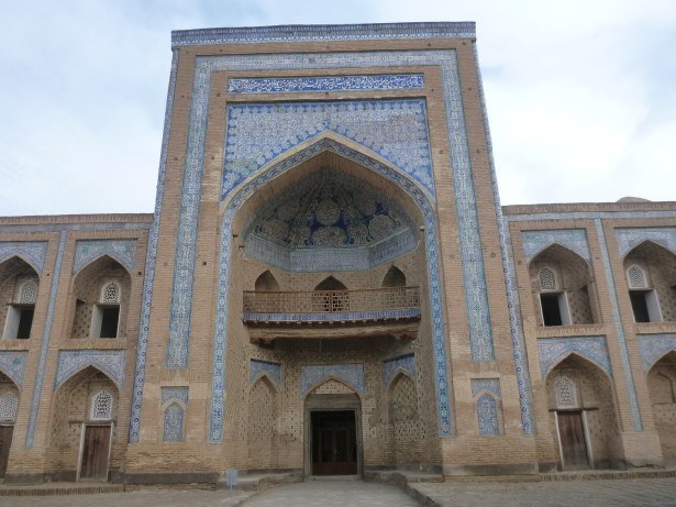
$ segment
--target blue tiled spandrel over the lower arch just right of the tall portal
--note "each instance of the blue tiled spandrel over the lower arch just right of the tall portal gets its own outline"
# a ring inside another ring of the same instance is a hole
[[[608,375],[612,375],[608,343],[606,337],[545,338],[538,340],[540,353],[540,371],[544,378],[550,371],[575,352],[600,366]]]

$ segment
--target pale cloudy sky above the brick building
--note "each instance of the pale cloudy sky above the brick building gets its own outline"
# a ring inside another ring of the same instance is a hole
[[[676,200],[673,0],[2,2],[0,214],[151,212],[170,31],[476,21],[502,203]]]

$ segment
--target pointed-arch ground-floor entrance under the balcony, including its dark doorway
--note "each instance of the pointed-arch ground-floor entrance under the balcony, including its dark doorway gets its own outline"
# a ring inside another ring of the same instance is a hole
[[[330,379],[306,398],[306,475],[362,474],[362,403]]]

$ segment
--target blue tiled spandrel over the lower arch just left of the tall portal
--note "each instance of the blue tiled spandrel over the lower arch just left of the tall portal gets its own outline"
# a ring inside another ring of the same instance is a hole
[[[122,388],[124,381],[124,351],[59,351],[56,365],[56,390],[64,382],[87,366],[93,366],[108,375]]]

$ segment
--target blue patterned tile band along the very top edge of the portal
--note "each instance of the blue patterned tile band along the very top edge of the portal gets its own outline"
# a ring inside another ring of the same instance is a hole
[[[384,41],[397,38],[476,37],[472,21],[437,23],[369,23],[285,25],[181,30],[171,32],[171,46],[303,41]]]

